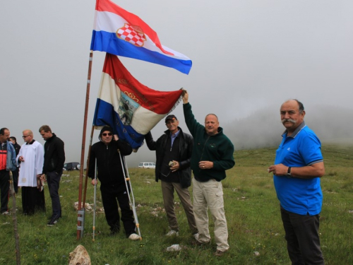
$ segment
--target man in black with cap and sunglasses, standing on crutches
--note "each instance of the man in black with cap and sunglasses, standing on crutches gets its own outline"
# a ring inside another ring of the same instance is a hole
[[[128,200],[128,192],[130,191],[126,190],[124,166],[121,165],[122,155],[130,155],[132,148],[128,143],[119,140],[117,135],[114,135],[113,140],[113,130],[109,126],[103,127],[99,139],[100,141],[92,145],[90,149],[88,177],[92,179],[92,185],[97,184],[95,179],[95,163],[97,160],[97,178],[100,179],[100,192],[105,218],[110,226],[111,234],[114,235],[120,230],[119,203],[121,221],[124,225],[126,237],[130,240],[139,240],[140,236],[136,234],[133,211]]]

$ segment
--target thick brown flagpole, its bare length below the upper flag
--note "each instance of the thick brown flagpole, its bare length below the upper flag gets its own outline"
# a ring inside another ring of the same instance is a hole
[[[83,168],[85,160],[85,139],[87,129],[87,116],[88,116],[88,102],[90,101],[90,75],[92,72],[92,60],[93,51],[90,51],[90,61],[88,63],[88,77],[87,77],[87,88],[86,88],[86,101],[85,101],[85,116],[83,119],[83,132],[82,132],[82,146],[81,146],[81,160],[80,160],[80,182],[78,186],[78,218],[77,218],[77,239],[79,240],[83,235],[83,219],[84,214],[80,214],[82,211],[82,182],[83,182]],[[88,167],[87,167],[88,170]],[[85,208],[83,206],[83,208]]]

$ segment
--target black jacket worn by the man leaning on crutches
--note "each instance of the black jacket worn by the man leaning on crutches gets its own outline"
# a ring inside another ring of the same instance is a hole
[[[124,162],[123,155],[130,155],[132,152],[132,148],[128,143],[122,140],[114,141],[113,139],[107,146],[102,141],[92,145],[88,177],[91,179],[95,178],[95,159],[97,158],[97,178],[100,179],[102,184],[124,183],[124,172],[118,149]]]

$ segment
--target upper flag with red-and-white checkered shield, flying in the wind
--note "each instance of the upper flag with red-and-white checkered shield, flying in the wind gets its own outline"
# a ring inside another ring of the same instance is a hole
[[[93,51],[149,61],[189,74],[191,59],[161,45],[157,33],[133,13],[109,0],[97,0],[93,26]]]

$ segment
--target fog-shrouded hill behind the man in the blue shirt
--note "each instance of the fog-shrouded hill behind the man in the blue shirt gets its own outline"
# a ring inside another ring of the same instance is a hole
[[[304,121],[322,142],[352,143],[352,118],[352,109],[318,105],[306,108]],[[244,119],[221,126],[236,150],[277,147],[285,131],[280,122],[279,107],[258,110]]]

